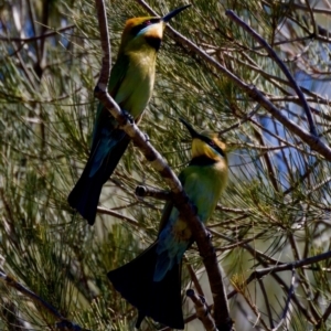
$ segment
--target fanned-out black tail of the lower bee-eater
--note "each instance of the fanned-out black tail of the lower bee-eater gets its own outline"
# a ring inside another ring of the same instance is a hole
[[[157,245],[158,242],[107,276],[115,289],[138,309],[137,329],[145,317],[150,317],[167,327],[182,330],[181,265],[175,264],[163,279],[153,281]]]

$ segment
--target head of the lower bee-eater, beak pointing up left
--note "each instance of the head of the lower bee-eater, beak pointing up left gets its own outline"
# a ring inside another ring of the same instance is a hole
[[[217,135],[211,131],[196,132],[184,119],[180,121],[186,127],[192,137],[192,159],[207,157],[214,161],[226,161],[226,145],[218,140]]]

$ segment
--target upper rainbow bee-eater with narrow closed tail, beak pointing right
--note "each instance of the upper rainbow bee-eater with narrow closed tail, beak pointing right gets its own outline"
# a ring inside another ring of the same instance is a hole
[[[152,95],[157,52],[166,24],[189,6],[178,8],[163,18],[134,18],[126,22],[108,90],[137,124]],[[90,225],[95,222],[102,188],[129,141],[130,138],[118,127],[115,118],[99,104],[88,161],[67,199],[70,205]]]

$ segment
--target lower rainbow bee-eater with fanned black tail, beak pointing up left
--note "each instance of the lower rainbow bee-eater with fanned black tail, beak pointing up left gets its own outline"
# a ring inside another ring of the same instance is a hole
[[[215,135],[196,132],[182,120],[192,137],[192,160],[179,179],[205,223],[216,207],[227,183],[225,145]],[[168,202],[157,241],[132,261],[108,273],[115,289],[138,309],[136,328],[145,317],[167,327],[183,329],[181,260],[192,245],[191,228]]]

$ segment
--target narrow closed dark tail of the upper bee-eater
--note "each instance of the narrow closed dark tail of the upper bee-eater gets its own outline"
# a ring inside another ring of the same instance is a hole
[[[129,136],[125,135],[124,138],[111,148],[98,170],[90,177],[90,170],[94,164],[94,152],[92,152],[78,182],[67,197],[68,204],[77,210],[78,213],[87,220],[89,225],[93,225],[95,222],[103,185],[111,175],[129,142]]]

